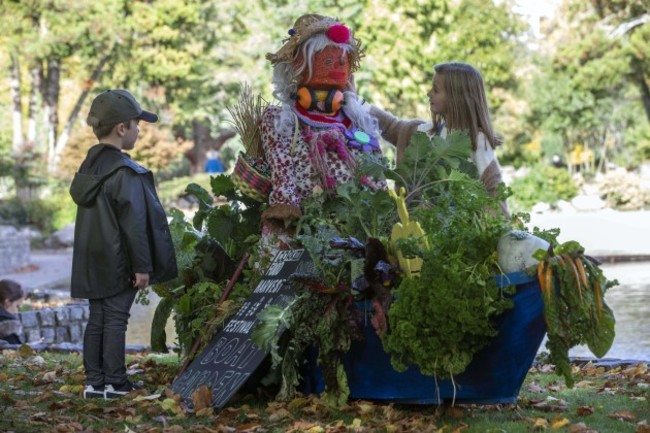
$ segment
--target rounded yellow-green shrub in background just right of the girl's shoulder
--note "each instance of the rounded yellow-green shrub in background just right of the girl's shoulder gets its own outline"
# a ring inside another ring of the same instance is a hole
[[[558,200],[571,200],[578,193],[567,170],[544,164],[538,164],[526,176],[514,179],[510,188],[513,208],[523,211],[530,210],[539,202],[552,205]]]

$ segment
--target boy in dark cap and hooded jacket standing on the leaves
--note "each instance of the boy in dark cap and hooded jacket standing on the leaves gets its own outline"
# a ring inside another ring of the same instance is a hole
[[[126,90],[108,90],[93,101],[88,118],[99,144],[75,174],[77,204],[71,295],[89,300],[84,333],[84,398],[115,398],[137,389],[127,379],[126,327],[138,289],[177,275],[165,211],[151,171],[123,150],[133,149],[142,110]]]

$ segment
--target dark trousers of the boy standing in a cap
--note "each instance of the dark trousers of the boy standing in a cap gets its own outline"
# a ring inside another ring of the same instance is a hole
[[[83,347],[86,385],[126,382],[126,325],[137,292],[138,289],[130,288],[109,298],[89,300],[90,316]]]

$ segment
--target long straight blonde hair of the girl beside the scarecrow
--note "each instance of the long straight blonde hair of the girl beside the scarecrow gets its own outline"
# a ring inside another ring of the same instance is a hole
[[[443,78],[447,96],[446,112],[433,116],[434,128],[440,130],[446,126],[448,131],[469,131],[474,150],[479,132],[485,134],[493,149],[501,144],[492,130],[481,73],[472,65],[460,62],[440,63],[433,69],[436,76]]]

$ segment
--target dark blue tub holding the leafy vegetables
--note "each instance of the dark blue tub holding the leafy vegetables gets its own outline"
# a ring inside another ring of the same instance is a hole
[[[417,366],[395,371],[370,320],[365,320],[364,339],[354,341],[342,358],[350,397],[406,404],[439,404],[452,399],[456,403],[515,403],[546,333],[544,304],[535,276],[517,272],[501,275],[497,282],[501,287],[517,286],[514,307],[498,318],[499,334],[476,354],[465,372],[454,377],[453,384],[449,379],[436,381],[425,376]],[[371,314],[369,302],[360,302],[357,308]],[[305,379],[317,390],[322,380],[311,373]]]

